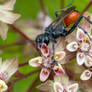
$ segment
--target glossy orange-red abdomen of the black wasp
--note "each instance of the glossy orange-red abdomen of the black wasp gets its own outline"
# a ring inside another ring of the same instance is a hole
[[[64,23],[66,26],[69,26],[70,24],[73,24],[80,16],[80,12],[78,11],[72,11],[67,17],[64,19]]]

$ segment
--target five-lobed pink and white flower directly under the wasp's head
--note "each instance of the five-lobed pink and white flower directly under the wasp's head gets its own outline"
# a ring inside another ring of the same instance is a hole
[[[54,71],[56,75],[64,75],[64,69],[61,66],[60,62],[65,56],[64,51],[56,52],[55,53],[55,60],[57,61],[58,65],[54,65],[52,67],[53,61],[52,61],[52,50],[48,48],[46,44],[42,44],[40,48],[42,52],[42,56],[33,58],[29,60],[29,65],[33,67],[42,67],[41,73],[40,73],[40,80],[46,81],[47,78],[50,75],[51,70]]]

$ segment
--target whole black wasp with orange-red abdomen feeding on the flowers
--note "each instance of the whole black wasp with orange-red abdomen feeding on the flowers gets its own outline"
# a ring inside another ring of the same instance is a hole
[[[61,11],[62,13],[58,14]],[[82,18],[85,18],[89,23],[92,24],[92,22],[87,17],[81,16],[80,12],[75,10],[75,6],[72,6],[68,9],[66,9],[65,7],[63,10],[59,10],[55,14],[56,14],[56,19],[45,29],[45,32],[43,34],[40,34],[36,37],[37,49],[41,46],[42,43],[48,45],[50,41],[52,42],[54,62],[55,62],[54,54],[55,54],[56,39],[59,37],[65,37],[70,33],[72,33],[80,23]],[[69,27],[71,24],[73,24],[72,27],[69,28],[69,30],[67,30],[67,27]],[[88,33],[85,30],[83,31],[85,32],[85,34],[88,35]]]

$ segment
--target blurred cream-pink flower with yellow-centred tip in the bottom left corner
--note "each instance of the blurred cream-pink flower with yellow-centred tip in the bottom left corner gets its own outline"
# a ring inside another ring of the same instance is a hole
[[[4,62],[0,58],[0,92],[5,92],[8,89],[7,83],[17,70],[18,61],[16,57]]]

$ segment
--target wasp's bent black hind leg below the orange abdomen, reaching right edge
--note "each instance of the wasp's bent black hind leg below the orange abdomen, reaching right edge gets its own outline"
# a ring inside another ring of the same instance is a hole
[[[72,26],[72,28],[69,31],[66,31],[66,34],[64,36],[67,36],[68,34],[72,33],[74,31],[74,29],[78,26],[78,24],[80,23],[81,19],[85,18],[90,24],[92,24],[92,21],[90,21],[87,17],[85,16],[80,16],[79,19],[75,22],[75,24]],[[84,31],[84,30],[83,30]],[[88,35],[88,33],[86,31],[84,31],[84,33],[86,33]]]

